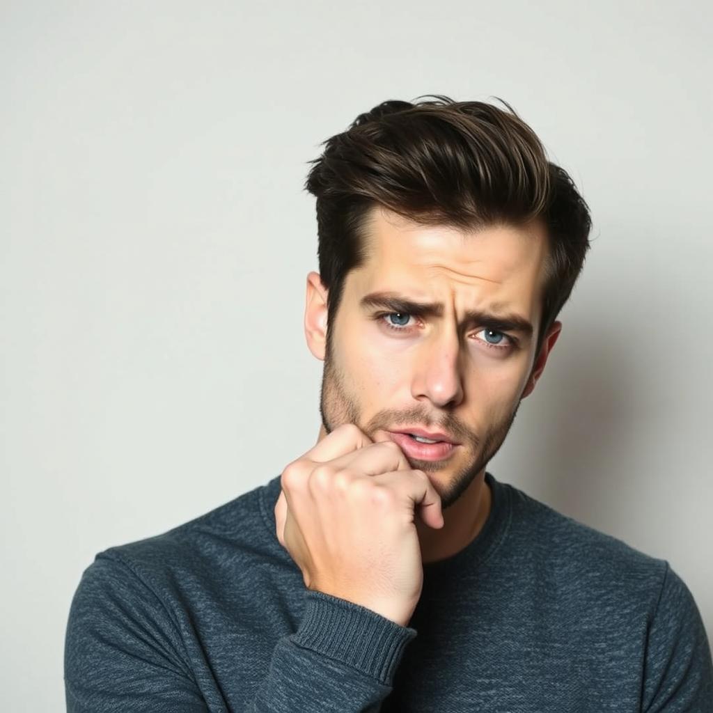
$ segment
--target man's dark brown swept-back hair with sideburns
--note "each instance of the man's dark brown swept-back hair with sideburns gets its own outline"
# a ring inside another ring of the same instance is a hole
[[[383,205],[421,225],[462,230],[540,218],[547,227],[548,257],[539,352],[584,264],[591,227],[587,204],[508,103],[499,100],[509,110],[504,111],[430,96],[435,101],[385,101],[360,114],[309,162],[314,165],[304,188],[317,198],[327,324],[337,314],[347,273],[366,259],[371,207]]]

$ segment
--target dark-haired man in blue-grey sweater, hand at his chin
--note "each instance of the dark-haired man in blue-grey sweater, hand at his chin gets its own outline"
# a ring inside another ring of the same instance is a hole
[[[589,247],[565,171],[514,112],[437,97],[359,116],[307,188],[317,444],[97,556],[68,622],[68,709],[713,710],[670,566],[486,472]]]

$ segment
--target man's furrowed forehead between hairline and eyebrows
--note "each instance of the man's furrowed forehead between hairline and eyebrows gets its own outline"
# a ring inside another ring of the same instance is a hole
[[[399,291],[463,310],[498,302],[538,319],[548,242],[542,222],[463,231],[376,207],[364,232],[366,260],[345,289]]]

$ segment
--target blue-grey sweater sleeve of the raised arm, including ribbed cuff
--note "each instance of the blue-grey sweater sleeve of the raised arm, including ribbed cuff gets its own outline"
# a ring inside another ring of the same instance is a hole
[[[170,607],[129,565],[98,555],[69,613],[67,710],[376,713],[416,631],[337,597],[306,597],[297,631],[277,641],[265,677],[236,708],[196,674]]]

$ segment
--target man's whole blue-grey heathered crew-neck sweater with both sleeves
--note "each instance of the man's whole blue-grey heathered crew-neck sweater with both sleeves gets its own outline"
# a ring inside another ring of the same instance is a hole
[[[305,589],[275,535],[279,477],[100,553],[69,615],[68,711],[713,712],[667,562],[486,482],[486,525],[424,565],[407,627]]]

